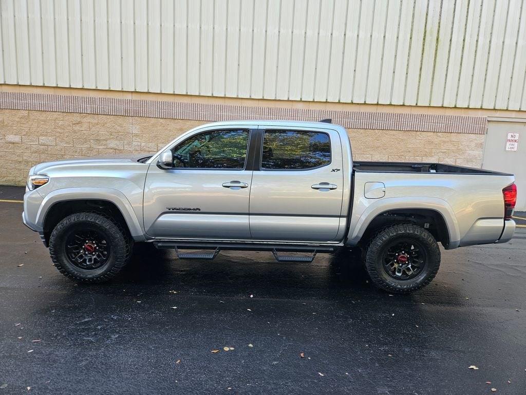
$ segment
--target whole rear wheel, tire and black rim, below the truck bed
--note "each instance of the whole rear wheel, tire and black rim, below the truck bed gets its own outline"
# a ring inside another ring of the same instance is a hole
[[[392,225],[371,240],[365,264],[377,287],[410,293],[426,287],[437,275],[440,248],[433,235],[420,226]]]

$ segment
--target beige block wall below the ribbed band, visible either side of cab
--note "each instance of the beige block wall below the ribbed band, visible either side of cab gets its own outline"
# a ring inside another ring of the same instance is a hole
[[[201,121],[0,110],[0,184],[24,185],[37,163],[77,156],[155,152]],[[355,160],[480,167],[485,135],[348,130]]]

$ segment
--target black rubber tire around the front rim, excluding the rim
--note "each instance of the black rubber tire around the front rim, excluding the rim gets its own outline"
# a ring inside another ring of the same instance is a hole
[[[65,244],[70,232],[79,226],[92,226],[103,232],[111,249],[107,261],[98,269],[80,269],[69,261]],[[81,212],[68,215],[53,229],[49,238],[49,254],[58,271],[67,278],[86,282],[108,281],[126,265],[131,255],[131,240],[117,221],[94,212]]]

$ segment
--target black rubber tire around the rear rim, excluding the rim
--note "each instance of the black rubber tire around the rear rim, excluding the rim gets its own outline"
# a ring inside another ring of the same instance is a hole
[[[398,239],[413,239],[426,253],[422,271],[414,278],[397,280],[383,268],[383,252],[389,243]],[[365,265],[372,282],[380,289],[391,293],[410,293],[426,287],[437,275],[440,266],[440,248],[427,230],[413,224],[396,224],[378,232],[365,249]]]

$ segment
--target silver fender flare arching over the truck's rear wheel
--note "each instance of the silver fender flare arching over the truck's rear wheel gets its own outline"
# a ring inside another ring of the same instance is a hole
[[[388,197],[378,199],[367,206],[367,208],[356,217],[351,213],[349,245],[356,245],[373,219],[378,215],[391,210],[423,209],[432,210],[442,215],[449,234],[448,249],[457,248],[460,244],[460,231],[457,217],[449,203],[439,197]],[[352,210],[354,212],[354,209]]]

